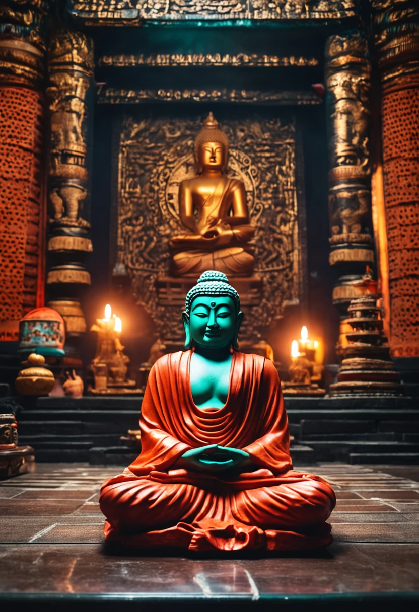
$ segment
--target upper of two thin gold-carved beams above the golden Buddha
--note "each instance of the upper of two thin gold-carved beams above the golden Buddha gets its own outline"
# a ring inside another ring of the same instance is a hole
[[[150,55],[104,55],[98,59],[100,67],[129,67],[129,66],[248,66],[248,67],[287,67],[287,66],[317,66],[316,58],[303,58],[302,56],[279,57],[260,53],[152,53]]]

